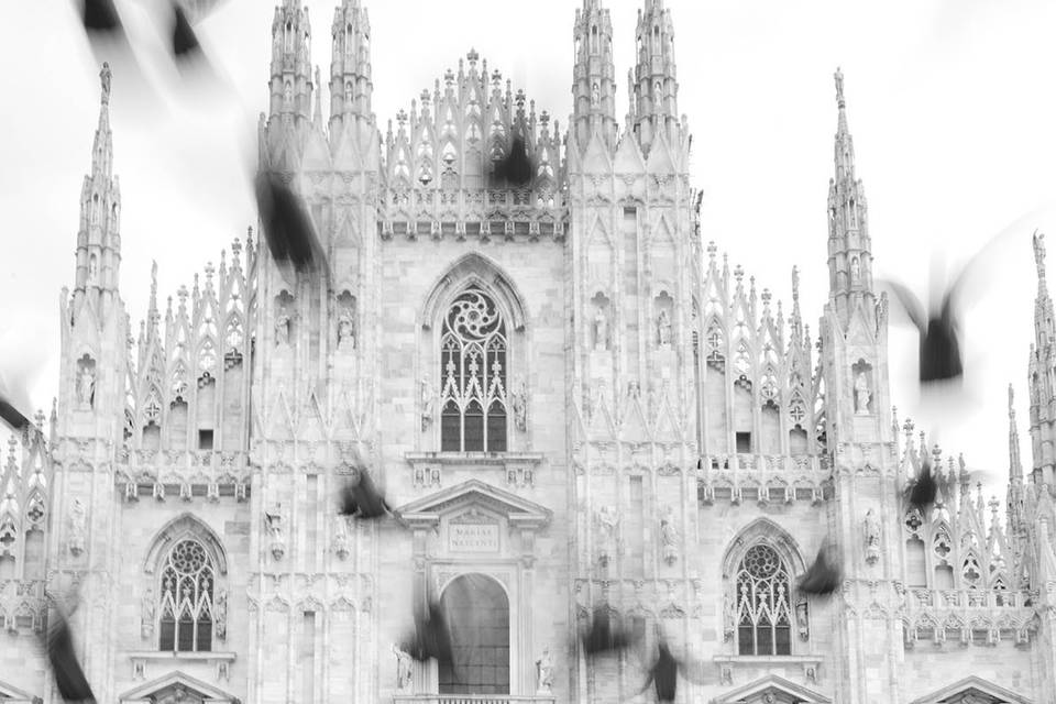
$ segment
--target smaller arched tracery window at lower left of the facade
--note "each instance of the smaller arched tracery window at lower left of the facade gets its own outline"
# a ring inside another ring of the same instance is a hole
[[[200,542],[173,546],[161,569],[160,650],[212,650],[215,586],[216,568]]]

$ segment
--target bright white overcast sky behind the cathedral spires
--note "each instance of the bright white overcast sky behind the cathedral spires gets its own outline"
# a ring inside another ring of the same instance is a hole
[[[579,0],[366,0],[374,110],[385,123],[475,47],[562,125],[571,111]],[[0,58],[0,370],[51,407],[58,381],[59,289],[70,285],[80,185],[98,116],[98,66],[72,2],[8,8]],[[266,108],[271,0],[228,0],[200,26],[232,89],[178,89],[144,15],[119,2],[155,95],[116,67],[112,125],[122,190],[122,295],[138,331],[151,260],[164,298],[255,224],[245,180],[246,129]],[[336,0],[309,0],[314,61],[329,74]],[[639,0],[608,0],[623,124]],[[1048,0],[667,0],[675,24],[680,109],[694,133],[694,185],[705,240],[790,302],[802,273],[812,332],[827,293],[826,196],[836,129],[833,72],[846,77],[858,175],[869,198],[876,274],[927,292],[934,253],[957,265],[990,235],[1056,198],[1056,3]],[[324,78],[326,80],[326,78]],[[323,100],[324,109],[328,101]],[[1056,210],[1023,224],[992,258],[966,319],[970,400],[924,408],[916,340],[892,326],[899,417],[936,429],[944,450],[996,473],[1008,466],[1005,386],[1016,388],[1026,440],[1026,354],[1036,278],[1030,232],[1056,242]],[[1054,245],[1056,246],[1056,245]],[[760,256],[761,255],[761,256]],[[1056,256],[1056,254],[1054,254]],[[1056,262],[1056,260],[1050,260]],[[1056,264],[1054,264],[1056,266]],[[897,319],[900,320],[900,319]],[[1030,463],[1030,443],[1024,441]]]

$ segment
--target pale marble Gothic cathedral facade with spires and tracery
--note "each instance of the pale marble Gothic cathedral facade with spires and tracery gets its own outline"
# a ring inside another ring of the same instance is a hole
[[[330,34],[323,81],[282,0],[260,123],[328,275],[284,275],[251,231],[190,288],[155,284],[138,331],[103,69],[57,403],[0,465],[0,700],[61,701],[47,594],[76,595],[108,704],[651,702],[660,637],[685,703],[1056,702],[1043,240],[1033,462],[1010,393],[1002,512],[895,417],[838,72],[815,339],[798,272],[785,312],[701,232],[662,0],[623,124],[601,0],[575,11],[563,129],[475,52],[381,125],[360,0]],[[531,170],[502,182],[515,148]],[[922,514],[902,495],[928,463]],[[363,472],[393,517],[338,515]],[[824,597],[796,585],[820,550],[844,570]],[[458,672],[398,648],[428,600]],[[597,609],[637,645],[588,658]]]

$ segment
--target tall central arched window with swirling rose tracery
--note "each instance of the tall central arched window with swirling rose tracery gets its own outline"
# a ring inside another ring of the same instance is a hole
[[[440,449],[506,451],[506,322],[476,286],[460,294],[440,338]]]

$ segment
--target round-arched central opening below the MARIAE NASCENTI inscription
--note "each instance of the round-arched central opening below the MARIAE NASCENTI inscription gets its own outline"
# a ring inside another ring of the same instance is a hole
[[[483,574],[443,590],[454,664],[440,667],[440,694],[509,694],[509,600]]]

